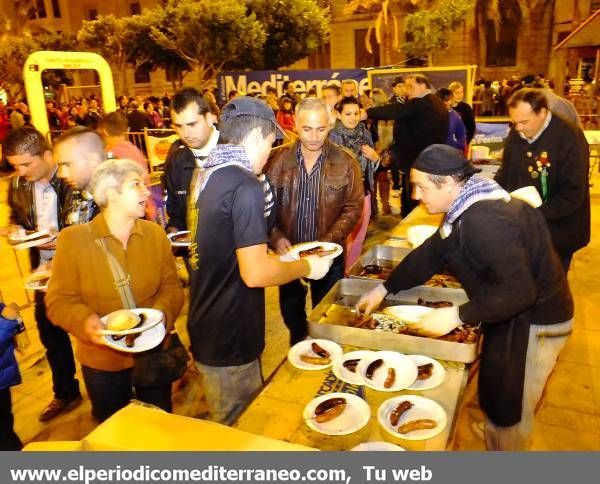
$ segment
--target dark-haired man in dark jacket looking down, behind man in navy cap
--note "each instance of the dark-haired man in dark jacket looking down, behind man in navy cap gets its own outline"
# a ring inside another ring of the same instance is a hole
[[[210,106],[196,89],[186,87],[171,100],[171,125],[179,140],[169,149],[165,161],[163,187],[167,192],[167,232],[188,229],[188,199],[196,168],[201,168],[218,140],[217,121]],[[194,203],[195,203],[194,199]]]

